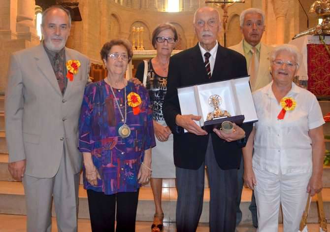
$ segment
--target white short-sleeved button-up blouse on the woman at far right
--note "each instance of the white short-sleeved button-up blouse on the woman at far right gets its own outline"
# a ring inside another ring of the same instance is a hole
[[[321,107],[309,91],[292,83],[286,97],[296,101],[296,108],[282,110],[271,89],[273,82],[253,93],[258,122],[255,123],[253,167],[274,174],[312,171],[312,140],[308,131],[323,125]]]

